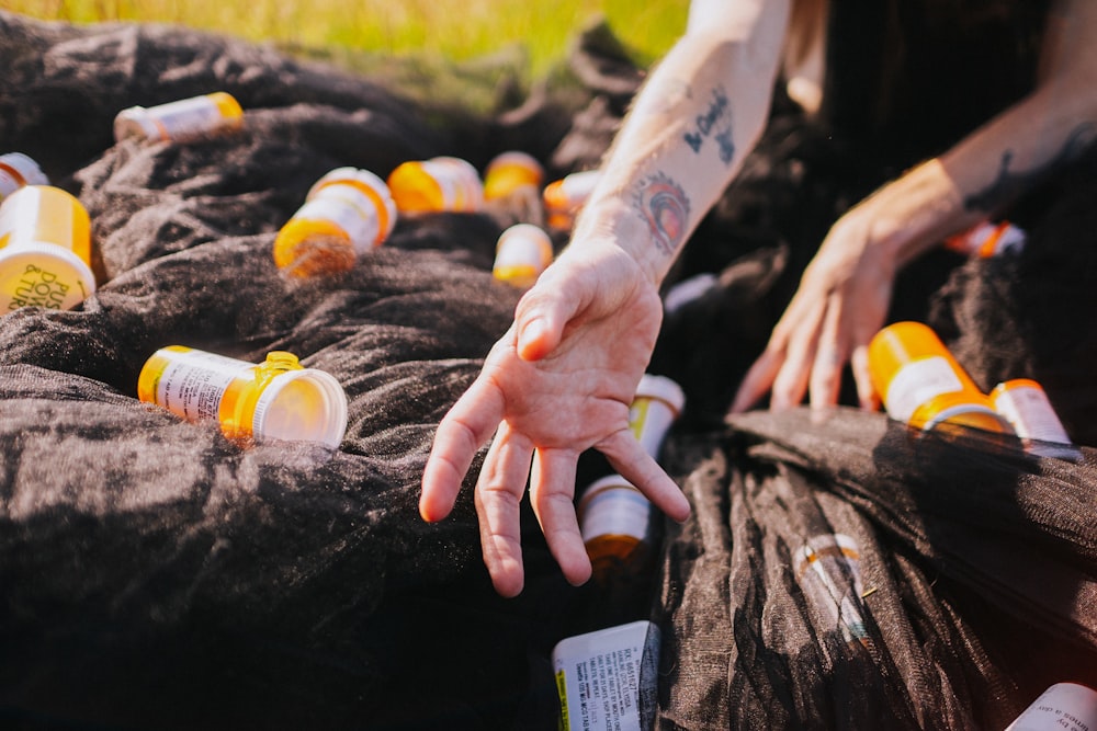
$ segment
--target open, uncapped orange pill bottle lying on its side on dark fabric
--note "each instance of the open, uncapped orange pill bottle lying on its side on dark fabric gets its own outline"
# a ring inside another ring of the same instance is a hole
[[[137,398],[186,421],[215,420],[230,439],[292,439],[339,447],[347,396],[330,374],[272,351],[258,365],[183,345],[158,350],[137,379]]]

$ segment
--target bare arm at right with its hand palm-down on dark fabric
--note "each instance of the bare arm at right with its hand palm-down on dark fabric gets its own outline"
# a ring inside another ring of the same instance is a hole
[[[884,323],[897,271],[946,236],[1000,210],[1097,136],[1095,37],[1097,3],[1061,1],[1032,93],[835,224],[744,378],[733,412],[767,390],[774,409],[800,403],[805,391],[812,407],[832,406],[847,362],[861,406],[875,407],[868,343]]]

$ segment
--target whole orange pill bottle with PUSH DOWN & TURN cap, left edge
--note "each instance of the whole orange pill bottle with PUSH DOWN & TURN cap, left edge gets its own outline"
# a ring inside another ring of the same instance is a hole
[[[95,292],[91,219],[73,195],[26,185],[0,204],[0,313],[72,309]]]

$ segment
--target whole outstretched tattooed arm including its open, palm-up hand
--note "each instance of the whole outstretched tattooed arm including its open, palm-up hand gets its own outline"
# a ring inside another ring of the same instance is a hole
[[[590,575],[575,516],[586,449],[675,519],[689,503],[629,430],[629,406],[658,334],[657,285],[765,123],[789,0],[699,2],[603,164],[572,242],[523,296],[514,324],[439,424],[419,512],[453,507],[493,434],[476,483],[484,561],[512,596],[524,574],[519,504],[530,501],[564,575]]]

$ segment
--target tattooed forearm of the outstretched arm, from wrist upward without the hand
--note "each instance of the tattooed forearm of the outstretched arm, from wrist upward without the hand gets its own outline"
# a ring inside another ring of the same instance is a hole
[[[769,112],[788,3],[740,7],[747,10],[734,18],[713,19],[724,24],[720,33],[683,36],[655,69],[606,158],[569,250],[611,241],[661,282]]]

